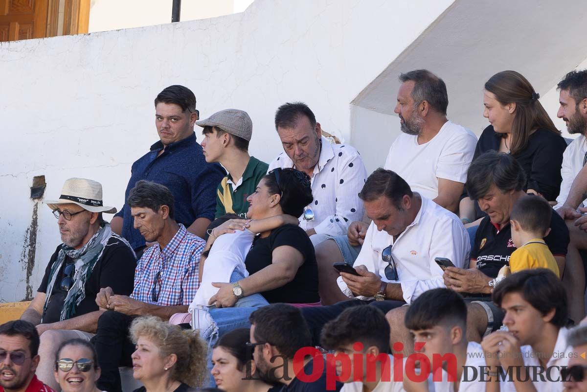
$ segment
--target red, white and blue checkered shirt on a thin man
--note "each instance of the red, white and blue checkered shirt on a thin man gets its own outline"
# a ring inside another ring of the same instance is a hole
[[[205,242],[184,225],[161,251],[149,246],[137,262],[131,298],[160,306],[190,305],[198,290],[198,268]]]

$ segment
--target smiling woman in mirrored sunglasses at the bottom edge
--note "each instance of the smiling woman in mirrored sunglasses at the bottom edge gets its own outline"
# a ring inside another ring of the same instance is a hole
[[[94,346],[83,339],[63,342],[55,354],[55,381],[62,392],[99,392],[100,367]]]

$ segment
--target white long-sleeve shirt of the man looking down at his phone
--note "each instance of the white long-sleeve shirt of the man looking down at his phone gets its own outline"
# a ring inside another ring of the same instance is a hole
[[[425,197],[421,199],[422,205],[416,218],[395,242],[392,235],[378,231],[371,222],[353,265],[355,268],[359,265],[366,266],[383,281],[400,283],[406,303],[411,303],[427,290],[446,287],[443,271],[434,262],[434,258],[448,258],[455,266],[467,268],[471,249],[467,230],[457,215]],[[381,253],[389,245],[393,245],[392,254],[397,263],[399,281],[389,281],[384,273],[388,264],[381,258]],[[338,284],[343,293],[353,296],[340,276]]]

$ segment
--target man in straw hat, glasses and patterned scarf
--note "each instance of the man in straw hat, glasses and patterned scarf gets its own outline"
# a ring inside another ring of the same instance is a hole
[[[84,178],[65,181],[58,200],[46,201],[58,219],[59,244],[45,276],[21,319],[37,326],[41,335],[37,368],[40,380],[55,390],[55,350],[65,340],[90,340],[96,332],[101,288],[129,295],[133,290],[136,257],[129,243],[112,232],[102,214],[116,208],[102,202],[102,185]]]

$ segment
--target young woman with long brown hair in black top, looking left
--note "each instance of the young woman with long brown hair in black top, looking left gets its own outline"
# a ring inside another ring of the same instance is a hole
[[[490,125],[477,142],[473,160],[490,150],[511,154],[528,178],[525,190],[554,201],[561,188],[566,142],[538,98],[534,87],[518,72],[491,76],[483,94],[483,117]],[[485,216],[468,197],[461,200],[459,212],[465,224]]]

